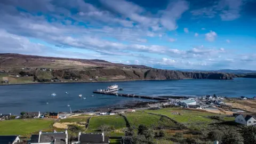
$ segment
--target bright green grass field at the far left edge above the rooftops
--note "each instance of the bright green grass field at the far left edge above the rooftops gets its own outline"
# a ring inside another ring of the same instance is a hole
[[[0,135],[27,136],[40,130],[49,131],[54,121],[45,119],[13,119],[0,122]]]

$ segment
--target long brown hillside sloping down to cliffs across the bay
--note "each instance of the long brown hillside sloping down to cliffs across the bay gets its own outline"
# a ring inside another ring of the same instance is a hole
[[[183,72],[154,69],[147,66],[124,65],[104,60],[39,57],[21,54],[0,54],[2,81],[90,82],[166,79],[232,79],[235,75],[214,72]],[[21,79],[22,78],[22,79]]]

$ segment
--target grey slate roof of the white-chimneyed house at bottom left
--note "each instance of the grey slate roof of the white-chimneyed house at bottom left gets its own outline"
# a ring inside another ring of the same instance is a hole
[[[31,135],[31,143],[38,143],[39,134]],[[66,144],[66,134],[63,132],[59,133],[42,133],[40,137],[40,143],[43,142],[54,142],[56,139],[56,144]]]

